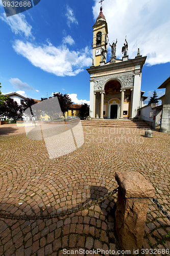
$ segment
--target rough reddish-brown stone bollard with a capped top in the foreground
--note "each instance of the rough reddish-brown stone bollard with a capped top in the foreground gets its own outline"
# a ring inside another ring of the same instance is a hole
[[[135,255],[142,248],[149,198],[154,197],[155,189],[133,170],[117,171],[115,179],[120,188],[115,212],[118,243],[122,250]]]

